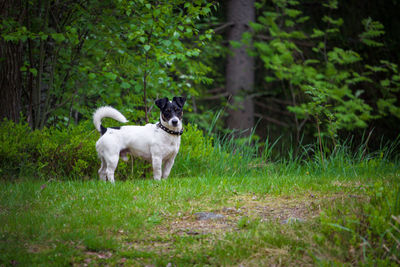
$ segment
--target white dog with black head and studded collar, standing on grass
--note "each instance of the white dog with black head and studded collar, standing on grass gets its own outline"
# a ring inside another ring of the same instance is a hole
[[[160,122],[145,126],[121,126],[105,128],[101,120],[105,117],[119,122],[128,122],[118,110],[112,107],[101,107],[93,114],[93,123],[101,133],[96,143],[96,150],[101,159],[100,179],[114,183],[114,172],[119,157],[127,160],[127,153],[141,157],[153,165],[155,180],[167,178],[181,143],[182,115],[184,97],[156,100],[160,108]],[[163,167],[163,168],[162,168]]]

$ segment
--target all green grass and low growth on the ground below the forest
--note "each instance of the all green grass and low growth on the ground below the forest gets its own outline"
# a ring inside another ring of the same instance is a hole
[[[14,145],[0,151],[0,266],[400,264],[399,140],[285,158],[277,142],[188,125],[172,177],[139,178],[142,165],[120,163],[112,185],[91,175],[95,136],[35,132],[26,149],[19,142],[32,138],[14,128],[0,128],[3,141],[20,136],[0,146]]]

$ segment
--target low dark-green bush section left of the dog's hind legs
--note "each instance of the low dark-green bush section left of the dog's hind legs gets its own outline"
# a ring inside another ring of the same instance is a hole
[[[91,176],[97,164],[97,133],[88,123],[58,130],[32,131],[28,124],[0,124],[0,174],[15,176]]]

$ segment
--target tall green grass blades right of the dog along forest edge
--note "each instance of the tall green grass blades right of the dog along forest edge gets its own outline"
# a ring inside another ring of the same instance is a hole
[[[216,115],[218,117],[219,114]],[[206,168],[213,175],[224,174],[263,174],[279,175],[325,175],[362,176],[391,172],[399,167],[400,135],[394,141],[381,145],[377,151],[368,150],[369,138],[355,140],[354,138],[338,142],[332,149],[323,151],[321,158],[318,140],[313,144],[301,145],[298,148],[289,146],[286,153],[278,153],[276,149],[280,138],[260,141],[255,135],[255,129],[246,137],[241,132],[212,134],[212,125],[206,135],[212,140],[211,153],[208,160],[212,169]],[[190,143],[183,145],[190,146]],[[285,147],[288,147],[285,145]],[[326,147],[323,145],[323,147]],[[202,173],[204,170],[198,170]]]

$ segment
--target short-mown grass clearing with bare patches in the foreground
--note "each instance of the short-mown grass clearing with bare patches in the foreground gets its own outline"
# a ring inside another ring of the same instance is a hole
[[[2,181],[0,265],[400,263],[398,165],[289,167],[115,185]]]

